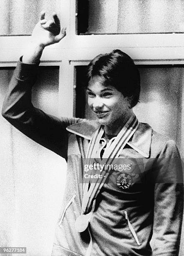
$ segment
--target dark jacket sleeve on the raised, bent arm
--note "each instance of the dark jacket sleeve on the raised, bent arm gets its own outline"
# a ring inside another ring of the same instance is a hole
[[[18,61],[3,103],[2,115],[26,136],[67,159],[66,127],[80,119],[59,119],[33,106],[31,90],[37,70],[37,64],[23,64],[21,59]]]

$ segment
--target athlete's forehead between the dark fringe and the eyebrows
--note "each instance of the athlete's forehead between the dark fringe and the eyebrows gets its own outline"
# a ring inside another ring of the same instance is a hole
[[[100,76],[91,77],[87,89],[89,90],[113,90],[117,91],[115,87],[106,84],[105,79]]]

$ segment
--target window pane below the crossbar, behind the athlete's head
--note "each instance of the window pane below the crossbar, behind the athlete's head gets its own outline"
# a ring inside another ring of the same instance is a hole
[[[134,113],[143,123],[149,123],[159,133],[181,143],[181,91],[184,67],[138,66],[141,75],[140,102]],[[95,119],[83,92],[85,67],[76,67],[76,116]],[[83,98],[82,98],[83,97]]]

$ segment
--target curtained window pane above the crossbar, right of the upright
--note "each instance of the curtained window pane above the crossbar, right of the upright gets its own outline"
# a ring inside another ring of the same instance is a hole
[[[184,32],[184,1],[89,0],[87,23],[92,34]]]

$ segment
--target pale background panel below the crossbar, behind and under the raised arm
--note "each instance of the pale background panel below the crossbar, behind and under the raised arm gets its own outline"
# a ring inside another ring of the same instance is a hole
[[[0,70],[0,109],[12,72]],[[33,102],[57,115],[58,68],[40,69]],[[0,246],[27,247],[28,256],[50,255],[66,162],[24,136],[2,116],[0,130]]]

